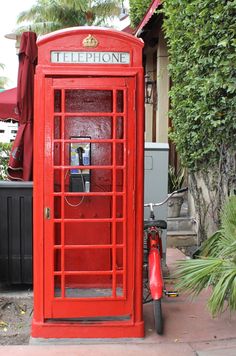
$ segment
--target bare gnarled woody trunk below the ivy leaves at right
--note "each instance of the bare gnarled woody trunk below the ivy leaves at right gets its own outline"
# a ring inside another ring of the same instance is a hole
[[[219,229],[221,208],[229,195],[236,194],[236,153],[222,145],[219,157],[218,166],[189,175],[199,243]]]

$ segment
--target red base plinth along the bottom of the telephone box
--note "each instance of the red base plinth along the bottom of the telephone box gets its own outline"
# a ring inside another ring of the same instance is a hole
[[[46,342],[57,339],[126,339],[143,338],[144,322],[106,322],[106,323],[39,323],[33,320],[31,343]],[[78,341],[79,342],[79,341]]]

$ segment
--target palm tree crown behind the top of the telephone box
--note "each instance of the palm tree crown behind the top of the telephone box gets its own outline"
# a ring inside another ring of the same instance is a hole
[[[23,25],[17,31],[30,28],[39,35],[66,27],[104,25],[118,16],[120,5],[120,0],[37,0],[18,15],[17,23]]]

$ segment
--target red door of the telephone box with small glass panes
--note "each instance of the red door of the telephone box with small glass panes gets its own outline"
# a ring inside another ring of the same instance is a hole
[[[47,79],[46,318],[130,320],[134,87],[132,78]]]

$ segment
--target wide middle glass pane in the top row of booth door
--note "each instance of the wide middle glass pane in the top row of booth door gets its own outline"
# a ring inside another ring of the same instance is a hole
[[[66,112],[112,112],[111,90],[66,90]]]

